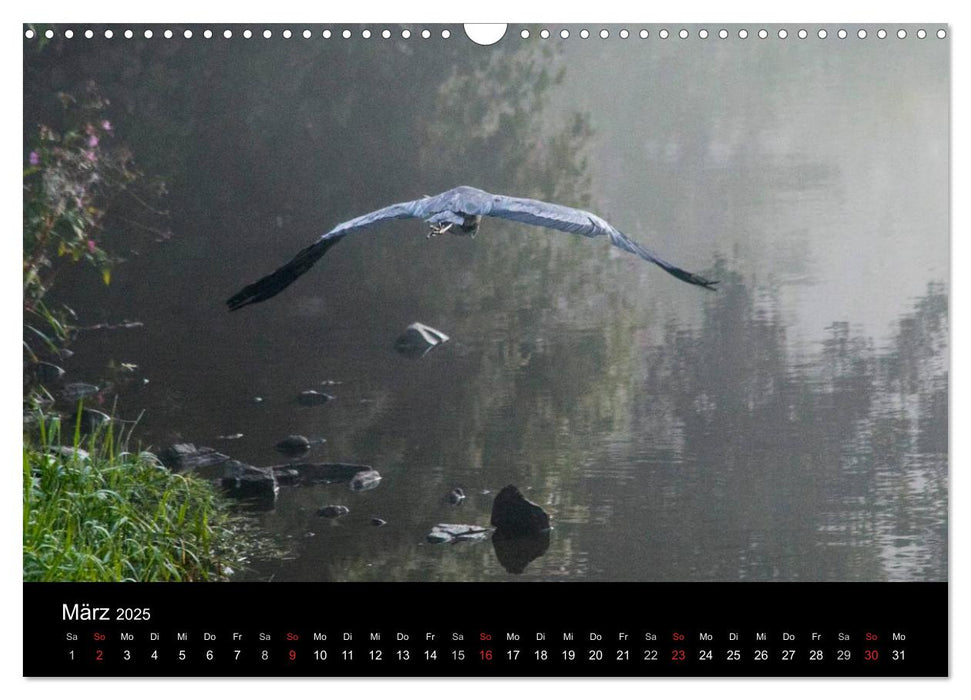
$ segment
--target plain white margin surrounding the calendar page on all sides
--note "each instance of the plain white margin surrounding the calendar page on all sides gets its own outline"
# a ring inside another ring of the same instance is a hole
[[[48,0],[47,2],[18,3],[16,7],[8,6],[0,10],[6,21],[0,23],[0,52],[3,66],[3,85],[9,92],[16,90],[22,82],[21,71],[21,25],[24,22],[278,22],[288,19],[300,19],[309,22],[584,22],[595,20],[598,23],[631,22],[639,20],[645,23],[671,22],[799,22],[812,20],[814,22],[859,22],[868,23],[874,20],[888,22],[950,22],[951,35],[948,41],[952,46],[952,85],[953,107],[952,124],[971,124],[971,110],[968,109],[969,83],[967,73],[968,43],[962,41],[962,34],[971,33],[971,23],[966,22],[967,11],[959,2],[946,0],[919,0],[919,2],[901,2],[899,0],[885,0],[879,4],[873,2],[851,2],[848,0],[813,0],[808,3],[785,3],[769,0],[735,0],[734,2],[716,2],[714,0],[696,0],[695,2],[648,3],[646,1],[634,3],[631,0],[596,0],[584,7],[579,2],[533,2],[526,4],[523,0],[490,0],[489,2],[460,2],[458,0],[421,0],[414,3],[391,2],[390,0],[371,0],[365,3],[330,4],[325,2],[297,2],[294,0],[274,0],[272,3],[240,7],[237,3],[202,4],[189,0],[166,0],[160,6],[146,6],[145,3],[132,0],[110,0],[107,2],[68,3],[64,0]],[[6,154],[3,163],[19,162],[22,115],[21,110],[2,116],[7,138],[4,147],[11,152]],[[21,127],[21,128],[18,128]],[[952,158],[953,184],[952,193],[971,191],[968,176],[969,163],[969,129],[953,128]],[[15,151],[16,153],[12,153]],[[9,269],[7,274],[0,275],[0,302],[3,304],[3,319],[12,323],[20,313],[19,303],[16,301],[21,295],[17,279],[21,274],[14,270],[14,252],[20,237],[15,232],[21,225],[21,175],[18,168],[8,167],[3,171],[3,187],[0,189],[3,197],[4,223],[3,246],[0,260]],[[952,269],[959,273],[971,266],[968,259],[969,244],[967,238],[971,235],[971,217],[969,217],[968,198],[953,199],[952,210]],[[963,238],[963,240],[962,240]],[[9,248],[8,248],[9,246]],[[958,358],[968,346],[967,328],[969,325],[968,307],[969,283],[966,278],[952,274],[951,309],[952,313],[952,347],[951,356]],[[15,696],[23,695],[38,700],[43,698],[70,698],[83,693],[87,698],[97,700],[108,698],[131,698],[139,700],[153,700],[160,698],[168,700],[172,693],[190,692],[192,695],[219,692],[223,695],[232,694],[233,700],[249,698],[262,700],[267,694],[284,692],[288,696],[308,697],[327,694],[330,697],[353,695],[354,700],[372,696],[404,696],[411,698],[461,698],[462,700],[492,700],[497,694],[515,696],[520,694],[542,693],[557,694],[557,700],[573,698],[587,698],[594,694],[610,693],[614,698],[646,698],[648,695],[677,696],[685,698],[705,698],[711,700],[731,693],[749,697],[776,698],[780,694],[787,697],[815,698],[817,695],[859,695],[862,693],[880,693],[883,697],[901,700],[912,700],[915,695],[934,693],[935,695],[957,697],[966,696],[971,684],[967,679],[971,677],[971,668],[967,659],[971,658],[971,645],[965,640],[965,635],[971,632],[968,624],[969,603],[967,596],[958,593],[967,590],[968,580],[967,556],[961,556],[961,551],[967,552],[967,543],[971,539],[971,532],[967,526],[967,518],[961,517],[960,510],[954,503],[967,504],[967,479],[962,474],[969,466],[968,439],[958,430],[957,425],[967,425],[969,420],[968,401],[969,385],[968,370],[959,362],[953,362],[951,375],[952,403],[951,403],[951,490],[950,490],[950,575],[951,581],[951,673],[950,681],[883,681],[883,680],[819,680],[793,682],[791,680],[486,680],[476,682],[465,680],[322,680],[322,679],[291,679],[291,680],[173,680],[170,682],[149,682],[145,680],[85,680],[85,681],[25,681],[22,675],[22,638],[17,635],[17,621],[23,619],[22,611],[22,579],[21,566],[21,472],[15,465],[22,459],[20,455],[21,437],[15,426],[20,424],[19,405],[15,397],[21,392],[19,381],[13,376],[13,370],[20,366],[20,350],[13,338],[0,346],[0,367],[3,367],[3,394],[8,397],[3,403],[3,415],[0,421],[0,464],[5,467],[7,483],[0,489],[3,501],[0,502],[0,513],[3,514],[2,538],[0,538],[0,557],[9,562],[3,567],[3,577],[0,579],[0,592],[3,600],[15,601],[16,609],[8,611],[8,616],[14,622],[8,627],[6,634],[0,636],[0,668],[4,681],[10,679],[12,683],[4,683],[4,687],[13,690]],[[966,353],[965,353],[966,355]],[[16,383],[15,383],[16,382]],[[957,420],[954,416],[958,416]],[[962,418],[963,417],[963,418]],[[967,509],[965,508],[965,511]],[[955,547],[953,543],[958,543]],[[18,606],[19,603],[19,606]],[[874,685],[876,687],[874,687]],[[963,690],[962,690],[963,689]],[[9,697],[9,695],[8,695]],[[881,699],[882,700],[882,699]]]

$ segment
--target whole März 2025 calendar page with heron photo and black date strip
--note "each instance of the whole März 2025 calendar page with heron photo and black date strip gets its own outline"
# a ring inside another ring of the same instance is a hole
[[[947,25],[22,31],[25,676],[948,675]]]

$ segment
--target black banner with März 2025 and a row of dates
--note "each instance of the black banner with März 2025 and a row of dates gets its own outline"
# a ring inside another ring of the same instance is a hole
[[[28,584],[28,676],[945,676],[947,584]]]

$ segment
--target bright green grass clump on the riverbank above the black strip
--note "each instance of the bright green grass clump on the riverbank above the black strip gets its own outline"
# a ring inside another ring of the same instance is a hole
[[[57,418],[36,426],[24,441],[25,581],[220,580],[240,564],[234,521],[208,481],[126,451],[130,434],[113,421],[84,438],[79,420],[63,426],[67,443]]]

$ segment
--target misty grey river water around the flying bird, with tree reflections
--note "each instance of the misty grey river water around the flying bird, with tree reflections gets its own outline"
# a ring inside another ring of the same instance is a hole
[[[945,42],[512,36],[28,49],[25,128],[94,80],[170,190],[170,239],[116,221],[111,285],[57,288],[82,325],[145,324],[82,333],[72,380],[137,364],[117,405],[146,444],[267,466],[303,434],[381,472],[282,488],[252,517],[290,554],[244,578],[945,580]],[[413,221],[226,312],[337,223],[459,184],[588,208],[719,291],[603,240]],[[450,341],[396,354],[414,321]],[[425,543],[509,483],[554,524],[523,573]]]

